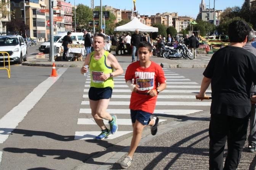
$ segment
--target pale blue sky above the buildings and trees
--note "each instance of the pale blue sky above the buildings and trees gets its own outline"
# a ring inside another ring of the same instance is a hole
[[[163,12],[178,12],[179,16],[196,17],[202,0],[136,0],[136,10],[139,14],[154,15]],[[82,3],[91,6],[91,0],[66,0],[72,4]],[[214,0],[210,0],[210,8],[213,8]],[[215,0],[215,9],[224,10],[227,7],[242,6],[244,0]],[[209,0],[205,0],[209,5]],[[94,6],[99,6],[100,0],[94,0]],[[102,6],[113,6],[121,10],[131,10],[132,0],[102,0]],[[208,7],[207,7],[208,8]]]

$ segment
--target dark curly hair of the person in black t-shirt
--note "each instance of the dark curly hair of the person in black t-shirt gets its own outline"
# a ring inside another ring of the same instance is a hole
[[[229,40],[234,43],[241,43],[250,33],[250,26],[241,20],[235,20],[229,24]]]

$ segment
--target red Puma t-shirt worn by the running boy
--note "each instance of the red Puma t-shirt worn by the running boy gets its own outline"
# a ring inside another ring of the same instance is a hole
[[[157,96],[146,95],[149,90],[156,89],[158,84],[166,83],[162,67],[151,62],[148,68],[142,68],[139,61],[130,64],[125,72],[125,80],[138,84],[140,91],[131,93],[130,109],[154,113]]]

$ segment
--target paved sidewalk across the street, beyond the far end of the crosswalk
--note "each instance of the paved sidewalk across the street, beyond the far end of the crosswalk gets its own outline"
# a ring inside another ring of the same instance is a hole
[[[212,56],[212,54],[197,54],[197,59],[202,56]],[[116,56],[122,68],[128,67],[131,64],[131,56]],[[197,59],[194,59],[196,61]],[[182,64],[181,61],[185,59],[164,59],[162,57],[152,56],[151,60],[161,64],[164,68],[205,68],[207,64]],[[189,59],[187,59],[189,60]],[[55,61],[56,67],[82,67],[83,61]],[[30,59],[23,62],[22,65],[38,66],[38,67],[52,67],[53,62],[49,61],[49,54],[45,54],[45,59]]]

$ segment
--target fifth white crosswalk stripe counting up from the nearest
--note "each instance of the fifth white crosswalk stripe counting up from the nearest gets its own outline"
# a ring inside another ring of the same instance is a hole
[[[84,94],[83,98],[88,99],[88,94]],[[116,95],[113,94],[111,96],[112,99],[118,98],[118,99],[130,99],[131,95]],[[159,94],[157,96],[157,99],[195,99],[195,95],[163,95]]]

